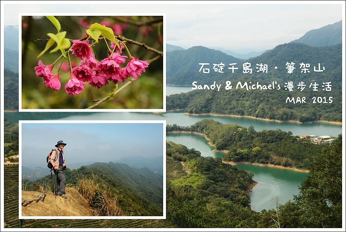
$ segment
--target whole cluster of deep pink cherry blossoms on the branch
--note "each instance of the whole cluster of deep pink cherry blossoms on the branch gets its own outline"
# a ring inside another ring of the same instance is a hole
[[[81,59],[79,66],[71,68],[70,78],[65,84],[65,91],[67,94],[77,95],[84,90],[84,84],[87,82],[93,87],[101,88],[103,85],[108,84],[108,81],[113,83],[124,82],[130,76],[134,79],[141,76],[142,72],[145,72],[145,68],[149,63],[135,59],[133,56],[122,56],[122,49],[125,45],[122,42],[117,41],[117,45],[111,42],[111,48],[114,52],[109,51],[108,57],[102,61],[98,61],[86,41],[73,40],[73,45],[69,49],[72,54]],[[119,45],[119,46],[118,46]],[[129,59],[128,63],[121,68],[122,64],[126,63],[126,58]],[[43,82],[46,87],[50,87],[54,90],[59,90],[61,87],[59,72],[52,74],[54,64],[48,66],[43,65],[42,61],[39,61],[39,66],[35,67],[35,73],[37,77],[43,77]],[[70,62],[71,66],[71,62]],[[71,66],[72,67],[72,66]],[[59,69],[60,70],[60,69]]]

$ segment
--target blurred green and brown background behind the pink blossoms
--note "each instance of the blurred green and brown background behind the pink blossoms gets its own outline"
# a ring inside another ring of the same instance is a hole
[[[60,32],[66,31],[67,39],[81,39],[86,35],[87,25],[100,23],[113,28],[115,25],[122,32],[115,31],[127,39],[163,51],[163,16],[54,16],[61,24]],[[161,19],[161,20],[160,20]],[[149,23],[148,23],[149,22]],[[34,68],[42,60],[45,66],[52,64],[61,52],[49,53],[56,43],[46,51],[43,56],[36,58],[43,51],[46,41],[36,39],[49,39],[47,33],[56,34],[54,25],[45,16],[22,17],[22,109],[86,109],[95,104],[93,100],[99,100],[113,91],[116,85],[108,81],[108,85],[100,89],[85,83],[82,93],[73,96],[65,92],[65,84],[69,80],[69,72],[60,70],[61,88],[55,91],[45,87],[42,77],[37,77]],[[108,41],[109,47],[111,46]],[[73,43],[71,42],[71,45]],[[150,60],[157,53],[145,49],[142,46],[127,42],[131,55],[139,60]],[[94,46],[99,61],[108,56],[106,43],[101,40]],[[67,50],[67,49],[66,49]],[[128,56],[125,49],[121,55]],[[81,59],[76,58],[70,52],[71,62],[79,65]],[[52,73],[56,73],[62,58],[55,64]],[[126,63],[128,59],[126,59]],[[68,59],[64,59],[68,64]],[[126,66],[121,65],[121,68]],[[164,80],[163,57],[154,61],[146,68],[145,72],[133,81],[129,86],[119,92],[113,99],[109,99],[94,109],[163,109],[164,108]],[[131,79],[132,77],[129,77]],[[119,88],[125,84],[118,82]]]

